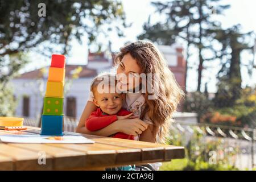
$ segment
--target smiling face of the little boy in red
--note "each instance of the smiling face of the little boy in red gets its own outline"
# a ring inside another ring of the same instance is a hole
[[[94,94],[94,104],[109,115],[117,114],[122,108],[123,94],[119,93],[99,93],[97,90]]]

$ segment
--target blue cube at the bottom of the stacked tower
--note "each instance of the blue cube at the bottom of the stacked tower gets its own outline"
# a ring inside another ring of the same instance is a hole
[[[63,124],[63,115],[42,115],[41,135],[64,135]]]

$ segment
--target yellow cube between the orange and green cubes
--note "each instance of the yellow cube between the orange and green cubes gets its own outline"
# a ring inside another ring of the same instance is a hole
[[[64,97],[64,82],[48,81],[46,85],[46,97]]]

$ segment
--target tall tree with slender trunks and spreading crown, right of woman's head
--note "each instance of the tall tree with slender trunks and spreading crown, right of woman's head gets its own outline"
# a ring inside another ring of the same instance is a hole
[[[197,68],[197,91],[199,92],[203,63],[205,60],[216,58],[216,56],[207,57],[204,54],[207,50],[213,51],[211,42],[214,31],[219,29],[221,25],[220,22],[210,19],[211,15],[212,13],[221,14],[222,11],[229,8],[229,5],[216,5],[214,7],[211,5],[218,1],[175,0],[152,3],[156,7],[156,12],[166,15],[166,21],[151,25],[149,18],[143,26],[144,33],[138,36],[139,39],[150,39],[165,45],[171,45],[177,39],[182,39],[187,43],[187,50],[195,46],[199,51],[199,65]],[[187,52],[187,60],[189,60],[189,52]]]

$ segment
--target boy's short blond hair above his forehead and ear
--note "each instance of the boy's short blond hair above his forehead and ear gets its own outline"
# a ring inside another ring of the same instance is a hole
[[[93,97],[95,97],[94,93],[97,91],[97,86],[99,84],[115,86],[115,75],[113,73],[104,72],[94,77],[90,84],[90,91],[93,93]]]

